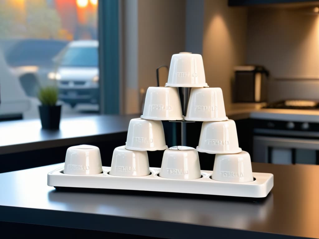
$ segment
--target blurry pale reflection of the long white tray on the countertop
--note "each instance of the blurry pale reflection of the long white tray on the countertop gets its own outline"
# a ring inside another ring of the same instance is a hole
[[[185,223],[198,223],[230,228],[247,229],[252,225],[261,226],[273,210],[273,194],[270,193],[264,200],[235,201],[229,197],[209,197],[186,194],[183,199],[179,195],[168,193],[139,193],[105,190],[107,193],[92,194],[77,192],[74,201],[74,192],[48,192],[48,200],[57,206],[63,205],[67,211],[86,213],[131,216],[154,220],[169,220]],[[136,194],[136,195],[134,195]],[[70,203],[70,201],[73,201]],[[189,205],[192,205],[191,207]]]

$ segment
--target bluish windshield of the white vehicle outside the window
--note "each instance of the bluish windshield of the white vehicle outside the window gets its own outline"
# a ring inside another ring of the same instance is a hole
[[[98,67],[97,47],[70,47],[61,60],[61,66]]]

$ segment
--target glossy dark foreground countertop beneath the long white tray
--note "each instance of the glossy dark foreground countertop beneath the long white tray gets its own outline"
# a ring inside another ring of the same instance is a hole
[[[0,174],[0,221],[166,238],[319,237],[319,165],[253,163],[254,172],[274,174],[271,193],[260,201],[60,192],[47,185],[47,173],[61,165]]]

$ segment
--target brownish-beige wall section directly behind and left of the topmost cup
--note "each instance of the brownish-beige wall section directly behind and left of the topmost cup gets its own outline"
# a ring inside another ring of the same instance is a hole
[[[185,1],[138,1],[139,86],[156,86],[156,68],[185,48]]]

